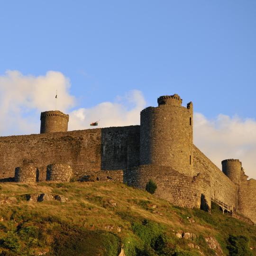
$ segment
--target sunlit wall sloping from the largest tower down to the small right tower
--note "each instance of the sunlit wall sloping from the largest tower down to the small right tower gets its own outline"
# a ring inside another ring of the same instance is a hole
[[[238,206],[238,187],[206,157],[196,146],[193,147],[194,175],[200,173],[210,181],[210,193],[220,201]]]

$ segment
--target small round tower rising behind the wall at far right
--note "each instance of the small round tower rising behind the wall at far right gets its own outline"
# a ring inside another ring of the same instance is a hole
[[[221,161],[222,172],[235,183],[240,183],[242,163],[238,159],[226,159]]]

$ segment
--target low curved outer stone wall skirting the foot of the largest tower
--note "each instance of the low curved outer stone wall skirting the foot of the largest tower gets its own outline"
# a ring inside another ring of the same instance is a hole
[[[174,205],[200,208],[205,198],[210,207],[210,184],[201,174],[185,176],[170,167],[159,165],[141,165],[124,171],[124,182],[139,189],[145,190],[150,179],[157,184],[154,195]]]

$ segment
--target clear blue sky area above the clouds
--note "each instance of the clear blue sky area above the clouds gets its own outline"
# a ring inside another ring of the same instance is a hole
[[[137,89],[255,118],[256,1],[0,1],[0,74],[62,72],[78,106]]]

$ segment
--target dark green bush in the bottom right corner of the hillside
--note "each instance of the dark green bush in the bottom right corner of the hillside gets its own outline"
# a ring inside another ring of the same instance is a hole
[[[232,236],[229,235],[229,243],[227,246],[229,256],[252,256],[249,247],[249,239],[245,236]]]

